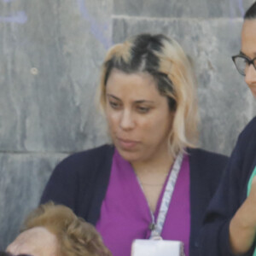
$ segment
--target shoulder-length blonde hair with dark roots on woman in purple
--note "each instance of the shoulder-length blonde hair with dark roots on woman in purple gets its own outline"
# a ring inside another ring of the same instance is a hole
[[[124,73],[149,73],[160,95],[166,96],[174,119],[169,136],[172,156],[198,141],[198,107],[195,72],[189,57],[173,39],[164,35],[139,34],[115,44],[102,65],[100,105],[106,107],[106,84],[113,68]]]

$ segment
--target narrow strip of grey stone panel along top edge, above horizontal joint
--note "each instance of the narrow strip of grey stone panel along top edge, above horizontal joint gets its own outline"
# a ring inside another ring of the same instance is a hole
[[[113,13],[158,18],[234,18],[244,15],[252,3],[253,0],[114,0]]]

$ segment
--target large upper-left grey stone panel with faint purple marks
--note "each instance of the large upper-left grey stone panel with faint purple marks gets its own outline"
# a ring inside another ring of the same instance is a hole
[[[0,1],[0,150],[102,143],[95,91],[111,15],[112,0]]]

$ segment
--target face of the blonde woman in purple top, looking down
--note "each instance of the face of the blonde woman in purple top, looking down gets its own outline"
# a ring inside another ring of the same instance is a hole
[[[113,144],[125,160],[168,154],[173,113],[148,73],[113,69],[106,84],[106,115]]]

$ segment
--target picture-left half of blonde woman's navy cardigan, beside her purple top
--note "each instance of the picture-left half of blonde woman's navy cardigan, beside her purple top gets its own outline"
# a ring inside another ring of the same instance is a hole
[[[40,203],[54,201],[96,224],[108,188],[113,146],[103,145],[68,156],[55,167]]]

